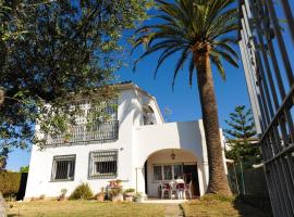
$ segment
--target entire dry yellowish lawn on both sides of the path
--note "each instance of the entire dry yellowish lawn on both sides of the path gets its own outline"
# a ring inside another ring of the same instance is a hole
[[[9,203],[9,216],[102,216],[102,217],[164,217],[184,213],[185,217],[267,217],[265,213],[234,197],[204,196],[177,204],[112,203],[97,201],[33,201]],[[181,210],[182,209],[182,210]]]

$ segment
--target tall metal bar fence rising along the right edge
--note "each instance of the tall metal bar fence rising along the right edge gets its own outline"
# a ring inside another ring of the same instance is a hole
[[[294,5],[240,1],[240,48],[274,216],[294,216]]]

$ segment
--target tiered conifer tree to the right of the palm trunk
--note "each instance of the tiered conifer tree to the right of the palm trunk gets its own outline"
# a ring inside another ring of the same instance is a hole
[[[256,141],[256,130],[250,110],[245,105],[236,106],[230,114],[230,120],[225,120],[230,129],[224,129],[229,149],[225,151],[228,158],[236,162],[260,162],[260,151]]]

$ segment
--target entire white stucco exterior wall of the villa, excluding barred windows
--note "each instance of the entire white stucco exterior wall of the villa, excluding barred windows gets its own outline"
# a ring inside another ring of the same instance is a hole
[[[154,112],[157,125],[143,126],[143,105],[148,104]],[[118,177],[124,188],[135,188],[145,192],[144,164],[154,153],[166,150],[184,150],[189,155],[182,158],[197,162],[199,190],[203,195],[208,184],[208,163],[203,122],[182,122],[164,124],[155,98],[137,88],[121,90],[118,107],[119,139],[114,142],[72,144],[70,146],[47,148],[38,151],[33,146],[25,199],[60,195],[61,189],[68,189],[69,196],[82,182],[87,182],[94,193],[108,184],[109,179],[88,179],[89,152],[99,150],[119,150]],[[37,133],[38,136],[38,133]],[[52,161],[56,155],[76,155],[73,181],[50,181]],[[179,155],[180,157],[180,155]],[[148,164],[170,159],[151,158]],[[150,165],[149,165],[150,166]],[[150,169],[148,173],[152,173]],[[148,178],[152,176],[148,176]],[[150,194],[157,193],[157,183],[148,180]]]

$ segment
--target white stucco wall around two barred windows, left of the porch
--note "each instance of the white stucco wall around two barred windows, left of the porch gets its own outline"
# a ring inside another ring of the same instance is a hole
[[[119,98],[118,119],[119,140],[115,142],[77,144],[71,146],[47,148],[38,151],[33,146],[29,174],[25,197],[60,195],[61,189],[68,189],[68,195],[82,182],[87,182],[94,192],[108,184],[109,179],[88,179],[89,152],[99,150],[119,150],[118,179],[122,179],[125,188],[134,186],[132,138],[133,123],[139,123],[139,105],[134,90],[123,90]],[[73,181],[50,181],[52,161],[56,155],[76,154],[75,176]],[[127,159],[127,161],[126,161]]]

